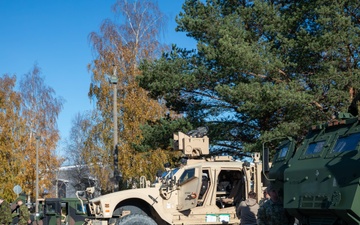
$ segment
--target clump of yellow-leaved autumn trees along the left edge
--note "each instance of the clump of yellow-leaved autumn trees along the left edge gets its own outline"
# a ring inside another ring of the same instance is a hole
[[[25,74],[18,92],[15,76],[0,77],[0,196],[10,202],[16,198],[15,185],[35,201],[37,144],[39,196],[53,189],[54,171],[61,162],[55,149],[59,139],[56,118],[62,101],[54,97],[39,73],[35,66]],[[55,193],[48,197],[55,197]]]

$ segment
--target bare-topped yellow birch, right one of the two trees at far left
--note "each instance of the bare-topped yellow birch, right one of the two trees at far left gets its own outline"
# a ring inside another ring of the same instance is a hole
[[[52,181],[61,159],[55,154],[60,138],[57,117],[63,106],[63,99],[55,96],[55,91],[47,86],[41,76],[40,68],[35,65],[19,83],[21,93],[21,117],[25,122],[27,142],[22,146],[24,191],[35,196],[36,149],[39,158],[39,194],[50,190]],[[53,194],[54,196],[54,194]]]

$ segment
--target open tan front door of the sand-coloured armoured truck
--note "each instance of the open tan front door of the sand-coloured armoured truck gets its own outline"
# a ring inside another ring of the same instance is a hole
[[[200,187],[201,167],[193,167],[184,170],[184,173],[178,180],[179,204],[177,209],[183,211],[196,207]]]

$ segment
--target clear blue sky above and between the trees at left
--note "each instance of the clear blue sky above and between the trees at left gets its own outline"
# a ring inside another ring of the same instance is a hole
[[[46,85],[65,100],[58,118],[62,141],[78,112],[94,107],[87,97],[93,59],[88,41],[104,19],[113,19],[116,0],[0,0],[0,75],[21,77],[35,64]],[[195,41],[175,32],[183,0],[158,0],[169,18],[164,43],[195,48]],[[62,142],[59,144],[61,145]]]

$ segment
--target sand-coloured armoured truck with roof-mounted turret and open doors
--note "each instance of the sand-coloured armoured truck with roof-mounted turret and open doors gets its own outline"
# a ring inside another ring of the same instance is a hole
[[[187,163],[168,169],[156,182],[89,200],[87,225],[239,224],[236,205],[251,190],[261,193],[260,154],[253,163],[207,157],[205,135],[174,134],[174,149]]]

